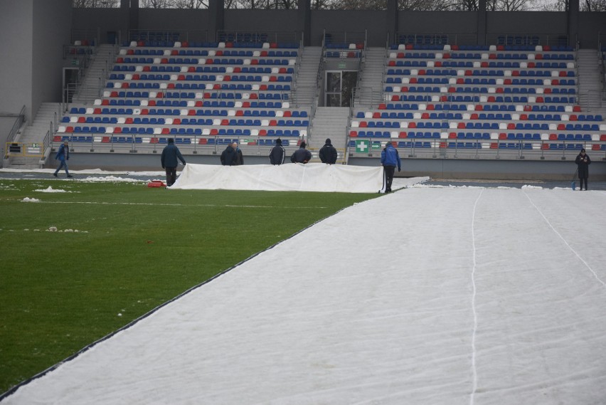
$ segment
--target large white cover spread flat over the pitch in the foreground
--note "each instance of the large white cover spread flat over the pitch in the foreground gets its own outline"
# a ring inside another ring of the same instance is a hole
[[[605,208],[603,191],[411,186],[2,404],[604,404]]]

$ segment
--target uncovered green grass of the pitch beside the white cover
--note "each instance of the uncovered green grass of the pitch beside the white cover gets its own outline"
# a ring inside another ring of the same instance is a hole
[[[0,393],[375,196],[1,179]]]

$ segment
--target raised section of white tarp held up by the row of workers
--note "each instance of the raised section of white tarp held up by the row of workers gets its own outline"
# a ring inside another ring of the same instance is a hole
[[[190,164],[171,189],[336,191],[376,193],[383,186],[383,167],[341,164]]]

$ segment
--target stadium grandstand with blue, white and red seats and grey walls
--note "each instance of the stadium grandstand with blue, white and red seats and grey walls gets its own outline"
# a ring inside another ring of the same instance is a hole
[[[3,1],[5,168],[157,169],[174,138],[219,164],[238,142],[267,164],[277,138],[326,138],[339,164],[404,176],[564,179],[580,149],[606,178],[603,11],[148,9]]]

